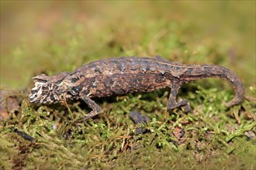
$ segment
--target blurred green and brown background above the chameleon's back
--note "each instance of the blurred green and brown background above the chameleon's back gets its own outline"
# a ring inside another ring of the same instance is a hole
[[[0,87],[111,56],[220,64],[255,78],[255,1],[1,1]]]

